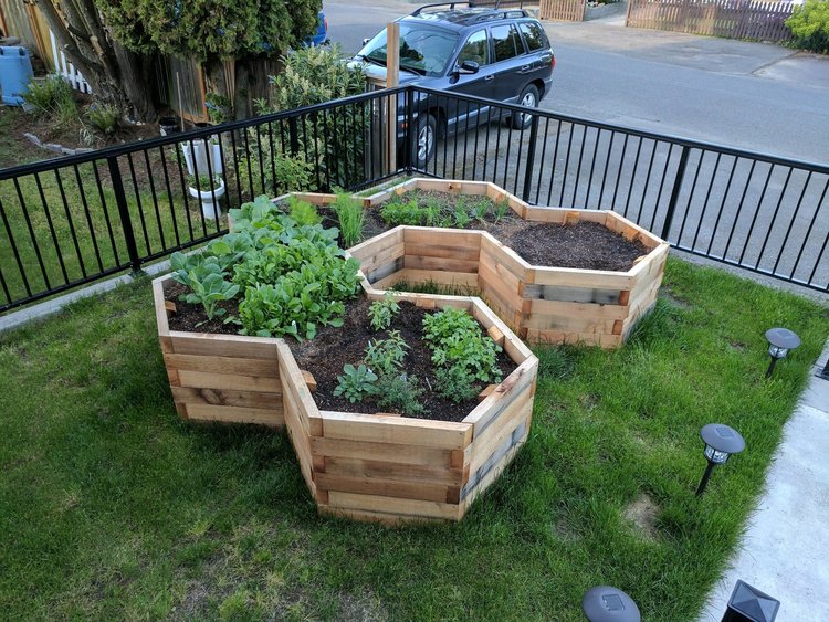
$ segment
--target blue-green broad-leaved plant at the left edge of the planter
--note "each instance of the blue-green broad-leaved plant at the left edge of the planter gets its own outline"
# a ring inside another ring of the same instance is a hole
[[[224,280],[227,265],[218,257],[174,253],[170,257],[172,278],[187,285],[190,292],[180,299],[201,304],[208,319],[224,315],[218,303],[230,301],[239,293],[239,285]]]

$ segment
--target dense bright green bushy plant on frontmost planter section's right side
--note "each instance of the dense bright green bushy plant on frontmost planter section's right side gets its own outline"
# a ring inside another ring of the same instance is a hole
[[[497,354],[501,347],[481,331],[463,309],[447,308],[423,317],[423,338],[436,367],[460,367],[481,382],[501,381]]]

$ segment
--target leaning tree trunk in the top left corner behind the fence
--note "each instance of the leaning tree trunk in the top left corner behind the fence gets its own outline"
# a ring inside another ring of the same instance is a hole
[[[84,75],[96,97],[135,120],[157,118],[146,56],[129,52],[112,39],[94,0],[35,1],[60,51]]]

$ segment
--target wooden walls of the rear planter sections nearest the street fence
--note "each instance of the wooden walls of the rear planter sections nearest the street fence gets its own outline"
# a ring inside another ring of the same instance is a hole
[[[399,226],[350,249],[378,289],[401,281],[473,287],[529,342],[606,348],[622,345],[655,303],[669,245],[612,211],[534,208],[493,183],[434,179],[412,179],[367,201],[377,205],[413,190],[486,196],[539,224],[598,223],[641,243],[644,253],[627,271],[539,266],[487,232]]]

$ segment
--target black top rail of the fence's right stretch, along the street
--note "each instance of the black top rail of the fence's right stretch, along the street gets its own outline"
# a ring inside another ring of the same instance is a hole
[[[507,104],[505,102],[494,102],[492,99],[485,99],[483,97],[475,97],[473,95],[460,95],[457,93],[448,94],[443,91],[438,91],[438,89],[429,88],[424,86],[414,85],[412,86],[412,88],[416,92],[428,93],[430,95],[437,95],[443,98],[451,97],[453,99],[461,99],[463,102],[470,102],[473,104],[482,104],[482,105],[487,105],[487,106],[492,106],[493,104],[495,104],[499,108],[503,108],[505,110],[512,110],[516,113],[526,113],[526,108],[518,106],[516,104]],[[414,101],[417,102],[417,97],[414,98]],[[543,117],[543,118],[563,120],[563,122],[575,124],[575,125],[586,125],[586,126],[595,127],[598,129],[607,129],[609,131],[621,131],[621,133],[629,134],[632,136],[639,136],[641,138],[649,138],[652,140],[659,140],[659,141],[664,141],[664,143],[673,143],[681,147],[720,151],[723,155],[727,155],[727,156],[748,158],[753,160],[758,160],[758,161],[768,162],[773,165],[788,166],[793,168],[804,168],[804,169],[808,169],[817,173],[829,175],[829,164],[811,162],[808,160],[797,160],[795,158],[786,158],[783,156],[776,156],[774,154],[758,154],[755,151],[748,151],[746,149],[739,149],[736,147],[718,145],[716,143],[705,143],[703,140],[695,140],[693,138],[685,138],[683,136],[675,136],[672,134],[655,134],[653,131],[636,129],[633,127],[628,127],[625,125],[610,125],[600,120],[588,119],[585,117],[575,117],[571,115],[565,115],[565,114],[554,113],[550,110],[543,110],[538,108],[533,110],[533,114],[538,115],[539,117]]]

